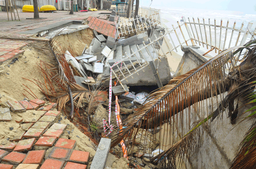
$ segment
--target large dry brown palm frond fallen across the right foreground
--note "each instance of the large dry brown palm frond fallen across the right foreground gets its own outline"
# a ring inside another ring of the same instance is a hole
[[[151,93],[137,113],[123,121],[126,128],[122,131],[114,129],[111,147],[124,139],[126,143],[131,143],[127,147],[132,151],[137,144],[135,136],[140,128],[144,128],[147,135],[148,129],[156,130],[160,126],[163,130],[139,145],[152,145],[152,151],[157,147],[152,140],[159,139],[158,148],[164,152],[151,161],[159,162],[161,168],[176,168],[182,159],[192,157],[202,138],[202,128],[206,124],[211,128],[209,119],[221,117],[225,110],[230,117],[236,117],[235,98],[241,95],[241,91],[249,92],[251,82],[256,79],[256,73],[252,71],[256,62],[255,46],[247,48],[249,51],[244,54],[244,62],[239,66],[232,53],[235,49],[238,49],[237,53],[244,48],[237,46],[227,49],[199,68],[173,78],[168,85]]]

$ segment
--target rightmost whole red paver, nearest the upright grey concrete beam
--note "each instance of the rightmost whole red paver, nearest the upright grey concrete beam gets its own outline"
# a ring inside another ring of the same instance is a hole
[[[68,161],[80,164],[88,164],[89,158],[90,152],[73,150],[73,152],[69,155]]]

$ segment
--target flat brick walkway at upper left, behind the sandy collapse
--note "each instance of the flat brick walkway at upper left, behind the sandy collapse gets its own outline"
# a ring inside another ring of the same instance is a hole
[[[19,10],[18,10],[19,11]],[[33,13],[29,12],[19,12],[19,21],[17,15],[16,20],[11,20],[9,12],[9,20],[7,18],[7,12],[0,12],[0,24],[4,25],[0,29],[0,35],[17,35],[17,36],[31,36],[32,34],[20,34],[27,30],[33,30],[46,25],[54,24],[56,22],[61,22],[64,20],[86,20],[89,16],[99,17],[100,13],[109,13],[108,11],[91,11],[91,12],[74,12],[74,15],[67,14],[66,11],[58,11],[57,13],[40,13],[39,16],[47,19],[26,19],[33,18]],[[14,16],[13,16],[14,19]],[[21,40],[10,40],[10,39],[0,39],[0,65],[10,59],[14,59],[24,51],[19,50],[21,47],[25,46],[26,42]],[[47,110],[48,107],[45,107]]]

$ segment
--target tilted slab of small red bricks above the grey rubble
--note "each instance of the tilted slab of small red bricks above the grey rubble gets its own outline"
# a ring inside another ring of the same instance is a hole
[[[115,37],[115,26],[112,26],[111,24],[108,24],[106,20],[103,19],[98,19],[96,17],[88,17],[87,20],[90,20],[88,26],[96,30],[97,32],[106,35],[106,36],[111,36]]]

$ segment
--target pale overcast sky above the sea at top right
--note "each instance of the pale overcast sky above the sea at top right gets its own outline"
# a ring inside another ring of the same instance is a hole
[[[148,6],[151,0],[140,0]],[[211,10],[232,10],[256,15],[256,0],[153,0],[153,6],[185,7]]]

